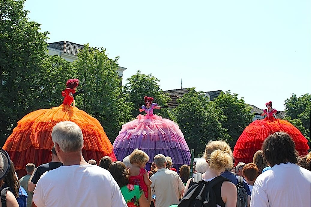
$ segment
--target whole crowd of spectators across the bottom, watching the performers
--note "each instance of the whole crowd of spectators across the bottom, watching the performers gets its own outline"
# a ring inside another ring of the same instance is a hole
[[[145,165],[149,156],[134,150],[122,162],[109,156],[84,160],[81,129],[73,122],[60,122],[52,131],[52,160],[35,168],[26,165],[18,180],[14,164],[0,148],[0,182],[7,206],[177,206],[194,179],[190,166],[182,165],[177,173],[172,159],[158,154],[151,170]],[[98,161],[98,165],[97,165]],[[247,206],[311,206],[311,152],[299,157],[292,138],[277,132],[264,141],[252,163],[234,167],[232,150],[223,141],[210,141],[196,173],[205,181],[222,177],[213,191],[217,206],[237,204],[238,177],[242,176]],[[4,201],[3,201],[4,200]]]

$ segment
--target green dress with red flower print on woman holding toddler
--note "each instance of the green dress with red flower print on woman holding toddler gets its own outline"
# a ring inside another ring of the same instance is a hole
[[[128,207],[139,207],[138,199],[144,193],[140,186],[128,184],[120,189]]]

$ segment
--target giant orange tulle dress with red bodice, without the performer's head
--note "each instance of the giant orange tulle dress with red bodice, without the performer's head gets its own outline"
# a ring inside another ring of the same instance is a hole
[[[52,129],[61,121],[75,122],[82,130],[84,146],[82,154],[85,160],[100,160],[108,155],[117,160],[111,142],[100,122],[77,107],[71,106],[73,98],[69,93],[73,89],[66,88],[62,95],[63,104],[51,109],[33,111],[17,122],[16,128],[7,138],[3,149],[10,155],[19,176],[25,175],[27,163],[39,166],[51,161],[50,151],[53,146]]]

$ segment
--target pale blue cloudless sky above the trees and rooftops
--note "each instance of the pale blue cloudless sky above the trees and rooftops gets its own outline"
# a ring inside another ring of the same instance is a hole
[[[231,90],[248,104],[310,93],[311,1],[39,1],[28,17],[48,43],[104,47],[127,78],[140,70],[162,90]],[[148,95],[148,94],[146,94]]]

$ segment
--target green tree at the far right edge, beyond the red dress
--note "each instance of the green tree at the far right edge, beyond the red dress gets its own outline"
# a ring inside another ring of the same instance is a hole
[[[285,113],[285,119],[300,130],[310,145],[311,95],[306,93],[297,98],[296,94],[292,94],[285,100]]]

